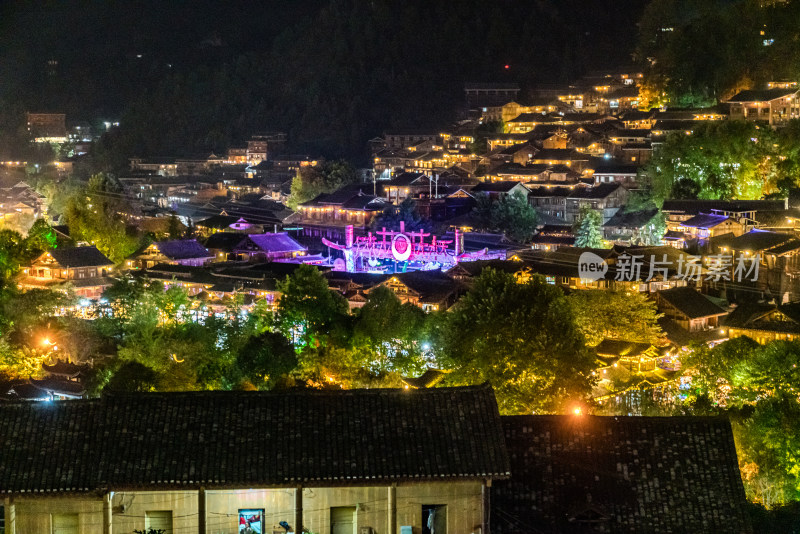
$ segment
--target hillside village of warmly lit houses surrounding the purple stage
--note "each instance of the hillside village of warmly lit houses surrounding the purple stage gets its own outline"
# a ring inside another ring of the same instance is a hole
[[[130,201],[124,215],[156,241],[118,265],[91,243],[60,246],[25,266],[19,283],[71,288],[87,317],[103,313],[103,291],[125,273],[185,288],[203,303],[198,313],[221,314],[239,297],[245,309],[274,304],[278,282],[301,264],[320,269],[351,309],[387,287],[403,302],[444,311],[486,267],[520,279],[538,274],[567,292],[643,293],[663,314],[663,342],[595,347],[595,399],[630,401],[636,413],[631,392],[679,394],[679,355],[691,342],[800,336],[800,210],[785,199],[667,200],[661,210],[631,203],[640,168],[665,134],[728,118],[778,126],[798,116],[797,85],[742,91],[713,109],[641,111],[640,79],[632,70],[593,73],[529,95],[515,85],[468,84],[463,120],[371,140],[372,167],[361,182],[296,211],[286,206],[292,179],[324,162],[287,155],[283,133],[254,135],[220,156],[133,157],[120,178]],[[32,131],[56,127],[55,119],[30,122]],[[0,193],[0,209],[44,213],[42,197],[25,184]],[[525,246],[481,231],[476,219],[476,206],[510,197],[538,214]],[[409,199],[429,228],[376,226]],[[598,215],[611,248],[575,246],[574,227],[587,211]],[[167,238],[171,214],[189,237]],[[68,240],[69,230],[59,237]],[[604,263],[604,277],[581,270],[586,252]],[[415,264],[415,256],[426,259]]]

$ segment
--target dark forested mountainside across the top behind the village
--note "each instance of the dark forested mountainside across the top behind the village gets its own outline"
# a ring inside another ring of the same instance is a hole
[[[454,119],[466,81],[529,87],[628,63],[645,3],[12,4],[0,72],[15,76],[0,76],[0,108],[120,118],[103,164],[220,151],[275,129],[293,148],[359,157],[385,128]]]

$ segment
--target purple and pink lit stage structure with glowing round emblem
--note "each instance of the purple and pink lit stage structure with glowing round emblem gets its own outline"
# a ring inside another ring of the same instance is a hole
[[[344,259],[333,262],[335,271],[358,272],[405,272],[446,271],[462,261],[505,259],[505,250],[464,252],[464,237],[455,231],[455,239],[438,239],[423,230],[406,232],[405,223],[400,222],[400,231],[382,228],[365,236],[355,237],[353,226],[345,230],[345,244],[334,243],[325,238],[328,247],[342,251]],[[451,247],[452,245],[452,247]]]

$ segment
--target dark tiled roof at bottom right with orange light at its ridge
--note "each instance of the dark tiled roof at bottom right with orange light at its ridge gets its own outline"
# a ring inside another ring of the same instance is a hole
[[[512,477],[493,534],[751,532],[730,423],[711,417],[503,417]]]

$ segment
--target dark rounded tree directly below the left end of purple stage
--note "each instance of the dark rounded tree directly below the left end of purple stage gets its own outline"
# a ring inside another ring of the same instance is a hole
[[[324,343],[346,321],[347,301],[328,289],[327,279],[312,265],[300,265],[278,283],[278,291],[275,324],[298,349]]]

